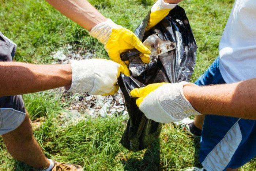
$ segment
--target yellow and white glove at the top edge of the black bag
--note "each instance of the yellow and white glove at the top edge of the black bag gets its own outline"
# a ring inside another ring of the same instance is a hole
[[[177,2],[181,0],[175,0]],[[177,4],[169,4],[163,0],[158,0],[151,8],[150,17],[147,23],[146,31],[157,25],[162,19],[164,19],[168,13],[176,7]]]

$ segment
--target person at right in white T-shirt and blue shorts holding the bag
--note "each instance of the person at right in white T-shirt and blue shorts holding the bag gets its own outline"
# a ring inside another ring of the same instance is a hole
[[[131,91],[140,110],[157,122],[196,115],[195,125],[202,126],[199,160],[208,171],[238,170],[256,155],[255,16],[255,1],[234,2],[219,56],[195,84],[158,83]]]

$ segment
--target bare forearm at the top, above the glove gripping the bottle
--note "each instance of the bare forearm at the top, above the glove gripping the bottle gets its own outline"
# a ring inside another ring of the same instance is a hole
[[[87,0],[46,0],[63,15],[90,31],[106,18]]]

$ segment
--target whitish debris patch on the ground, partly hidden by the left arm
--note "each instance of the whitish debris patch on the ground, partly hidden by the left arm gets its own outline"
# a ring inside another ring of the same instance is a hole
[[[66,48],[61,48],[53,53],[53,58],[57,60],[53,64],[67,64],[69,59],[81,60],[93,57],[93,52],[77,48],[74,51],[71,45],[67,45]],[[54,91],[60,92],[62,94],[61,100],[70,104],[65,108],[67,111],[58,118],[62,127],[68,123],[75,124],[79,120],[88,118],[86,115],[95,118],[128,113],[121,90],[110,96],[89,95],[87,93],[72,94],[65,91],[64,88],[58,88]]]

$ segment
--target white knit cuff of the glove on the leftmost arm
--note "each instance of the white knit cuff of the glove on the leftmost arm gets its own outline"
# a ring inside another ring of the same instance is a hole
[[[90,60],[70,60],[72,69],[71,87],[68,92],[90,92],[94,86],[94,63]]]

